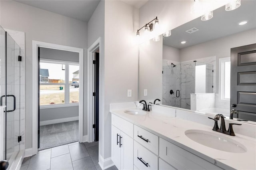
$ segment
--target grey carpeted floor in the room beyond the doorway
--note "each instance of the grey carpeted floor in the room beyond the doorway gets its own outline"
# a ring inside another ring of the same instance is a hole
[[[44,150],[78,141],[78,121],[40,126],[40,148]]]

